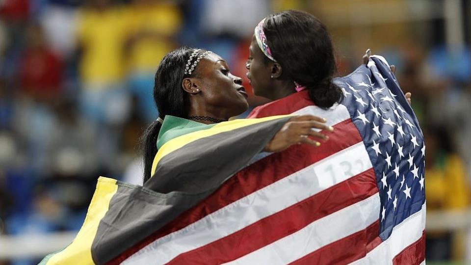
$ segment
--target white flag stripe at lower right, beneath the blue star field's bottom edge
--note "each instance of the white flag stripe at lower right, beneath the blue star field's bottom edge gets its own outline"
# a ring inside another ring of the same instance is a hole
[[[392,229],[391,237],[372,249],[364,258],[351,264],[376,264],[378,262],[392,264],[392,259],[397,254],[422,237],[425,229],[425,212],[424,203],[419,212],[407,217]]]

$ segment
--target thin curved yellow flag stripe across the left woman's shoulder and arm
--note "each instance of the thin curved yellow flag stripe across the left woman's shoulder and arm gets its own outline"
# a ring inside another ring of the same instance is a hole
[[[242,127],[247,127],[250,125],[254,125],[254,124],[258,124],[258,123],[262,123],[266,121],[281,119],[288,116],[291,116],[291,115],[271,116],[271,117],[265,117],[265,118],[260,118],[260,119],[237,119],[237,120],[218,123],[207,130],[190,132],[188,134],[176,137],[166,142],[165,144],[163,144],[162,147],[160,147],[160,149],[158,150],[154,158],[154,162],[152,163],[151,176],[153,176],[154,173],[156,172],[157,164],[158,164],[158,161],[160,161],[160,159],[172,153],[173,151],[179,148],[182,148],[184,145],[188,143],[191,143],[201,138],[209,137],[209,136],[221,133],[221,132],[229,132],[232,130],[240,129]]]

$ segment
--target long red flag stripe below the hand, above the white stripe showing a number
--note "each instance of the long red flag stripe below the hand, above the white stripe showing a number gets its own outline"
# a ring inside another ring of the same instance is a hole
[[[351,119],[342,121],[333,127],[335,128],[334,132],[325,132],[329,135],[329,140],[322,143],[320,147],[292,146],[284,152],[274,153],[245,167],[197,206],[182,213],[108,264],[119,264],[158,238],[178,231],[267,185],[362,141],[361,135]]]

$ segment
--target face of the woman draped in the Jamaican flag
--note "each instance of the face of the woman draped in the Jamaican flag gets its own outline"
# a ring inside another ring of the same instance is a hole
[[[221,109],[229,117],[242,114],[249,107],[242,79],[231,74],[227,62],[215,53],[209,53],[198,65],[205,104]]]

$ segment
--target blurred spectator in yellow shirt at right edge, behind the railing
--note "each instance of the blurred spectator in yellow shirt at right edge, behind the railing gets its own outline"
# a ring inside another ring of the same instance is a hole
[[[427,212],[466,210],[470,205],[470,185],[463,160],[452,151],[444,130],[424,130],[425,197]],[[450,220],[451,221],[451,220]],[[427,259],[457,259],[462,238],[448,231],[427,232]],[[461,257],[462,258],[462,257]]]

